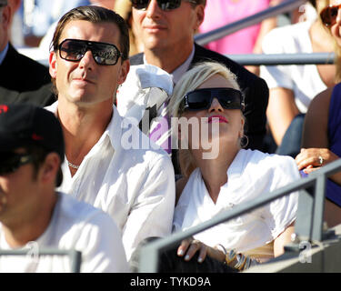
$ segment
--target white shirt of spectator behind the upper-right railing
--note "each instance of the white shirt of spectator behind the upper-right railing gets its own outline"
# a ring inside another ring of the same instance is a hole
[[[313,53],[309,36],[312,22],[276,27],[262,43],[264,54]],[[316,65],[261,65],[260,76],[266,80],[269,89],[283,87],[293,90],[296,106],[306,113],[311,100],[326,89]]]

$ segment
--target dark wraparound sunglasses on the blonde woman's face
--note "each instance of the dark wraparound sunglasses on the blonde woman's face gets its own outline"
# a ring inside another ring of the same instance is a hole
[[[245,104],[242,92],[233,88],[204,88],[188,92],[183,99],[182,111],[209,109],[213,99],[218,99],[225,109],[240,109],[244,111]]]

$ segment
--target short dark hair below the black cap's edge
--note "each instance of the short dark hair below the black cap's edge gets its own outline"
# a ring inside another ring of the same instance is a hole
[[[36,145],[28,145],[24,146],[25,152],[29,155],[33,156],[32,164],[34,166],[34,179],[38,175],[38,171],[40,166],[45,162],[46,156],[51,153],[50,150],[46,149],[43,146],[36,146]],[[62,161],[61,161],[62,163]],[[61,166],[59,166],[57,176],[55,177],[55,186],[61,186],[63,182],[63,172]]]

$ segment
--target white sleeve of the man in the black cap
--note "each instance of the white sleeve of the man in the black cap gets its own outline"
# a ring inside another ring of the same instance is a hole
[[[75,249],[82,251],[82,273],[130,272],[120,231],[105,213],[85,222]]]

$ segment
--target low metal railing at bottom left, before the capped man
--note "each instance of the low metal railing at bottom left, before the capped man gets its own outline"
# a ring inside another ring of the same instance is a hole
[[[42,248],[31,254],[32,250],[20,249],[20,250],[2,250],[0,249],[0,256],[69,256],[71,261],[71,272],[79,273],[82,263],[82,253],[72,250],[61,250],[58,248]]]

